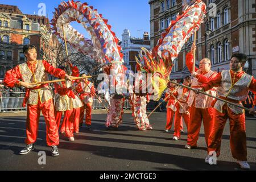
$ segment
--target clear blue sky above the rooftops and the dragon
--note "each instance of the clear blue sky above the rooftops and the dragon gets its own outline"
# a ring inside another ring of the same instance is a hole
[[[67,1],[67,0],[66,0]],[[38,14],[39,4],[46,5],[46,15],[52,19],[55,7],[60,0],[0,0],[0,4],[16,5],[24,14]],[[108,19],[119,39],[122,39],[124,29],[129,29],[131,36],[143,38],[143,32],[150,32],[150,5],[148,0],[81,0],[87,2],[98,10],[103,18]],[[86,37],[86,31],[79,23],[72,23],[72,26]]]

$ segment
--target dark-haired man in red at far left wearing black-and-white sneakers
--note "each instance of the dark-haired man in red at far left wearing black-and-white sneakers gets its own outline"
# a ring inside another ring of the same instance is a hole
[[[59,155],[57,145],[59,144],[59,133],[54,116],[52,90],[48,84],[32,85],[33,82],[48,81],[48,73],[58,78],[68,78],[65,71],[52,67],[45,60],[37,60],[36,47],[26,45],[23,53],[27,58],[26,63],[19,64],[6,72],[4,83],[6,86],[23,86],[26,88],[26,96],[23,106],[27,104],[27,122],[25,143],[27,146],[19,154],[28,154],[34,150],[34,143],[38,135],[40,111],[46,121],[46,142],[52,148],[52,156]],[[20,81],[22,80],[22,81]]]

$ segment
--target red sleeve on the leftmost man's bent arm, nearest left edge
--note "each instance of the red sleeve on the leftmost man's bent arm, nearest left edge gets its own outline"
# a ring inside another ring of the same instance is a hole
[[[13,69],[10,69],[5,73],[5,78],[3,79],[3,84],[10,88],[15,87],[19,84],[19,79],[22,79],[21,73],[19,71],[19,67],[16,66]]]

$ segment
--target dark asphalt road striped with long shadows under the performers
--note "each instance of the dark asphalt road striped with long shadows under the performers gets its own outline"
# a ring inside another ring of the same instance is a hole
[[[229,122],[226,123],[217,165],[204,163],[207,148],[203,127],[198,147],[184,148],[187,130],[180,140],[172,140],[173,132],[166,133],[166,113],[154,113],[150,117],[152,130],[138,131],[130,111],[123,115],[118,129],[105,128],[106,112],[94,110],[92,129],[82,127],[75,134],[75,142],[69,142],[60,134],[60,155],[51,156],[46,146],[46,125],[40,117],[38,140],[35,150],[19,155],[25,146],[26,112],[1,113],[0,115],[0,170],[23,171],[155,171],[155,170],[234,170],[242,169],[232,158],[229,147]],[[184,125],[185,126],[185,125]],[[251,170],[256,170],[256,119],[246,119],[247,153]],[[46,164],[40,165],[40,151],[46,152]]]

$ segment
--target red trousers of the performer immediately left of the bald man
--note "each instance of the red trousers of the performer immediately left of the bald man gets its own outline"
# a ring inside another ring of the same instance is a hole
[[[180,114],[179,113],[180,107],[177,106],[177,111],[175,112],[175,117],[174,117],[174,136],[176,136],[177,138],[180,138],[180,130],[181,130],[181,126],[180,126],[180,121],[182,122],[182,118],[185,121],[185,125],[188,128],[188,123],[189,123],[189,116],[190,114]]]

